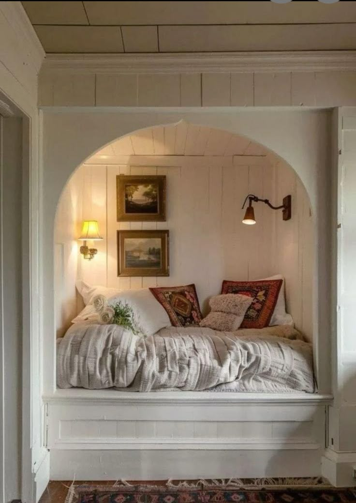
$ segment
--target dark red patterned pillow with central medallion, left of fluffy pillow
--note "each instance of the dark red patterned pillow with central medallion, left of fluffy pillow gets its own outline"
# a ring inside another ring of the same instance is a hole
[[[195,285],[150,288],[173,326],[198,326],[202,313]]]

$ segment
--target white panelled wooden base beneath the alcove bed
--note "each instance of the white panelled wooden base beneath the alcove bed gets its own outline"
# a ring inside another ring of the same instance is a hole
[[[298,393],[60,390],[45,398],[50,476],[318,476],[328,400]]]

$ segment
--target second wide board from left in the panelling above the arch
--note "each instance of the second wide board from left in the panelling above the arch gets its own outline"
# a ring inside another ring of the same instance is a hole
[[[97,107],[134,107],[137,105],[136,75],[96,75]]]

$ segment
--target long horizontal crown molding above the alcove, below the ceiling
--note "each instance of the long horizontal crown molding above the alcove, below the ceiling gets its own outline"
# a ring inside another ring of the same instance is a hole
[[[47,54],[43,73],[200,73],[356,70],[356,51]]]

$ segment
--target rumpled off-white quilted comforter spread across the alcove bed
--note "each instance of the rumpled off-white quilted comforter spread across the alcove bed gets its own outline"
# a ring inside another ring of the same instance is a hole
[[[135,336],[76,323],[57,341],[60,388],[314,392],[312,348],[290,326],[218,332],[162,328]]]

